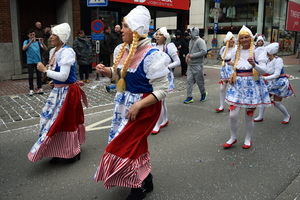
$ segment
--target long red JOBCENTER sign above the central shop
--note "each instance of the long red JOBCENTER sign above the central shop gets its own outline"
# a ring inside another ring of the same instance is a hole
[[[144,6],[156,6],[179,10],[189,10],[189,0],[109,0],[121,3],[139,4]]]

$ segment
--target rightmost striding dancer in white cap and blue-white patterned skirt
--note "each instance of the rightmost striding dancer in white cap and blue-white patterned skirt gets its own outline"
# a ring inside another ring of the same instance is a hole
[[[289,82],[289,75],[284,73],[284,64],[282,58],[276,54],[278,52],[279,44],[277,42],[271,43],[266,47],[267,55],[269,57],[267,62],[268,74],[263,76],[267,85],[270,96],[273,96],[274,107],[278,108],[284,115],[282,124],[288,124],[292,119],[284,105],[282,105],[282,98],[289,98],[294,95],[292,85]],[[266,107],[259,108],[259,115],[254,119],[254,122],[262,122],[264,120],[264,112]]]

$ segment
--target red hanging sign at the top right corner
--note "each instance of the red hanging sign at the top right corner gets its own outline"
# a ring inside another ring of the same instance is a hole
[[[300,31],[300,4],[289,1],[286,30]]]

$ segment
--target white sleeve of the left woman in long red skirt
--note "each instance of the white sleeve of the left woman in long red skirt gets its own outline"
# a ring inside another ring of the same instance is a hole
[[[64,82],[68,79],[71,66],[75,62],[75,52],[72,48],[63,48],[57,52],[55,58],[58,66],[60,66],[60,71],[56,72],[52,70],[47,70],[47,76],[52,79]],[[56,63],[54,64],[56,65]]]

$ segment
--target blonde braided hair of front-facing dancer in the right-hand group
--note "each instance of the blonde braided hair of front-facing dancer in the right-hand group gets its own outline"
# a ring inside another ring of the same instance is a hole
[[[240,35],[249,35],[251,37],[251,35],[247,32],[247,31],[241,31],[239,33],[239,36]],[[238,38],[239,38],[238,36]],[[253,37],[251,37],[251,42],[250,42],[250,51],[249,51],[249,56],[250,57],[253,57],[253,44],[254,44],[254,39]],[[236,81],[236,67],[237,67],[237,64],[239,62],[239,59],[240,59],[240,55],[241,55],[241,48],[240,48],[241,44],[240,44],[240,40],[238,40],[238,47],[237,47],[237,52],[236,52],[236,58],[235,58],[235,62],[234,62],[234,66],[233,66],[233,77],[232,77],[232,81],[235,83]],[[259,73],[255,70],[255,69],[252,69],[252,74],[254,76],[254,80],[258,80],[258,75]]]

